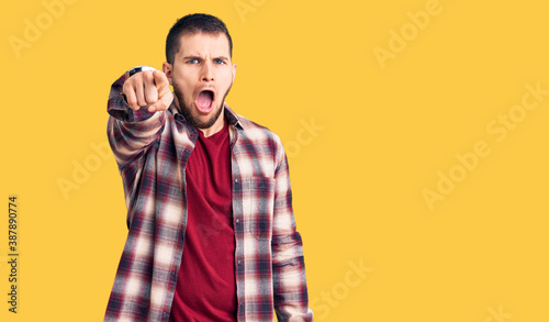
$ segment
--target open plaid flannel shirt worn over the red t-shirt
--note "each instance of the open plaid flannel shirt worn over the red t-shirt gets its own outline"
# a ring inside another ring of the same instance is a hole
[[[133,111],[111,88],[108,136],[124,185],[128,234],[104,321],[168,321],[187,224],[186,164],[198,137],[172,102]],[[235,114],[229,124],[238,321],[313,321],[280,138]],[[184,281],[183,281],[184,282]]]

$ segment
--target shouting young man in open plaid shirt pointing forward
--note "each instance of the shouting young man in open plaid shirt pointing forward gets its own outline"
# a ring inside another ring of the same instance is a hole
[[[224,101],[232,47],[221,20],[190,14],[163,71],[112,86],[128,236],[104,321],[313,321],[280,138]]]

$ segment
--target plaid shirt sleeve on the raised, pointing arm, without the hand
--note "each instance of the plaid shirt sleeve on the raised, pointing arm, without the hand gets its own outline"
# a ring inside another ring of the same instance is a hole
[[[124,74],[112,84],[107,104],[109,122],[107,134],[119,168],[139,158],[153,142],[159,138],[164,127],[165,111],[148,112],[147,108],[134,111],[122,96]]]

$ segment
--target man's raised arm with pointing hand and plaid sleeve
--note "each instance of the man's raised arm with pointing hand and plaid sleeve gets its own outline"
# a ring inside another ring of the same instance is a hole
[[[173,96],[160,70],[124,74],[111,87],[107,110],[109,143],[120,168],[159,137]]]

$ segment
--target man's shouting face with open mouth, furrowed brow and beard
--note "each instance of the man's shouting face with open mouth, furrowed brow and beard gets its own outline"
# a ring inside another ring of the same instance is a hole
[[[173,64],[163,66],[173,87],[176,106],[193,126],[217,127],[223,124],[223,102],[236,74],[228,40],[222,33],[183,34],[180,44]]]

